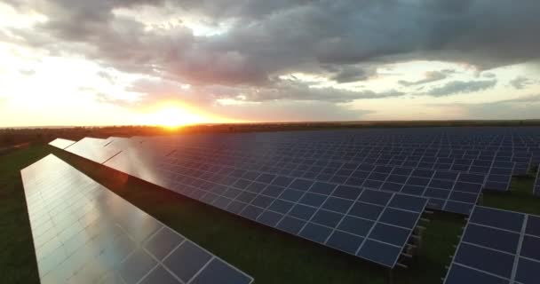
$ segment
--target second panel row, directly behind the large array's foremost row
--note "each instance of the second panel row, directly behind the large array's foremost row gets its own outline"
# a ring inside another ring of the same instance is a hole
[[[295,180],[323,182],[334,185],[347,185],[383,190],[387,192],[406,193],[429,198],[429,208],[448,210],[461,214],[468,214],[473,204],[478,201],[485,176],[460,174],[457,172],[413,170],[397,167],[373,166],[360,164],[357,168],[342,169],[310,175],[297,175],[299,172],[289,169],[277,169],[279,172],[261,169],[257,164],[239,164],[230,161],[209,159],[192,159],[187,161],[181,151],[172,154],[167,160],[171,163],[168,170],[175,173],[191,174],[193,177],[201,173],[213,174],[212,178],[220,183],[245,183],[258,177],[277,178],[289,177]],[[204,162],[201,162],[204,161]],[[330,169],[330,168],[325,168]],[[335,173],[334,173],[335,172]],[[231,180],[221,178],[222,175],[233,177]],[[234,180],[237,178],[238,180]]]

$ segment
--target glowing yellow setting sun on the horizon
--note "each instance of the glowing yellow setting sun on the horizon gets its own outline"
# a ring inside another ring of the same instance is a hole
[[[147,124],[162,126],[169,130],[204,122],[208,120],[203,115],[196,114],[183,106],[162,106],[147,117]]]

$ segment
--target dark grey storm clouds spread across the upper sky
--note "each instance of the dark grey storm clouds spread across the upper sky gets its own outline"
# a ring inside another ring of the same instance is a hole
[[[148,31],[139,21],[112,12],[142,4],[185,11],[210,24],[232,24],[218,36],[194,36],[187,27]],[[369,77],[369,71],[354,67],[358,64],[375,69],[384,62],[438,59],[484,70],[540,57],[536,0],[40,0],[34,8],[50,20],[33,32],[16,30],[28,44],[82,53],[103,66],[199,87],[262,89],[251,95],[255,101],[341,102],[381,95],[331,89],[322,94],[274,80],[293,72],[329,75],[326,66],[336,70],[330,80],[348,83]],[[442,76],[401,83],[429,83]],[[447,96],[493,85],[451,82],[431,94]],[[274,91],[277,88],[282,89]]]

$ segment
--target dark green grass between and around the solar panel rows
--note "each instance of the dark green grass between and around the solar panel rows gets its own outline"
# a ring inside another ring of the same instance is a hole
[[[262,283],[385,283],[385,269],[303,241],[50,146],[30,146],[0,156],[0,282],[39,283],[20,169],[56,154],[100,184],[179,233],[248,272]],[[532,177],[514,178],[511,193],[485,193],[482,205],[540,215]],[[419,256],[393,274],[398,284],[441,283],[445,265],[465,225],[464,217],[429,216]]]

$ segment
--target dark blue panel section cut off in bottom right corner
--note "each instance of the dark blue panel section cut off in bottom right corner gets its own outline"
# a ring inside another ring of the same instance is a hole
[[[540,217],[475,207],[445,284],[536,284]]]

